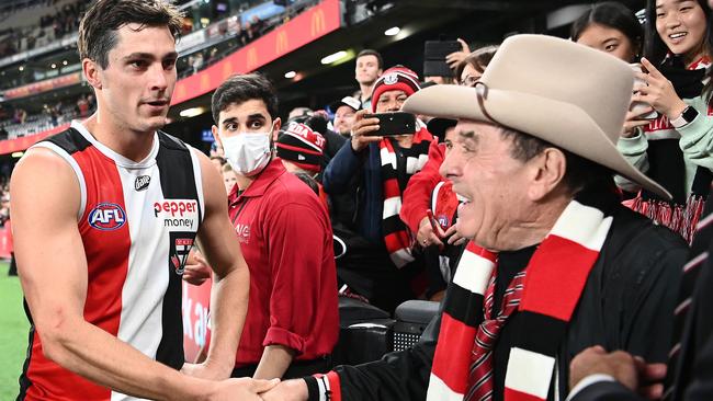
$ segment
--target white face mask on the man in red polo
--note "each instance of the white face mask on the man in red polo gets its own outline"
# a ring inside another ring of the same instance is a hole
[[[270,133],[240,133],[223,138],[225,158],[233,170],[242,175],[251,176],[268,165],[271,157]]]

